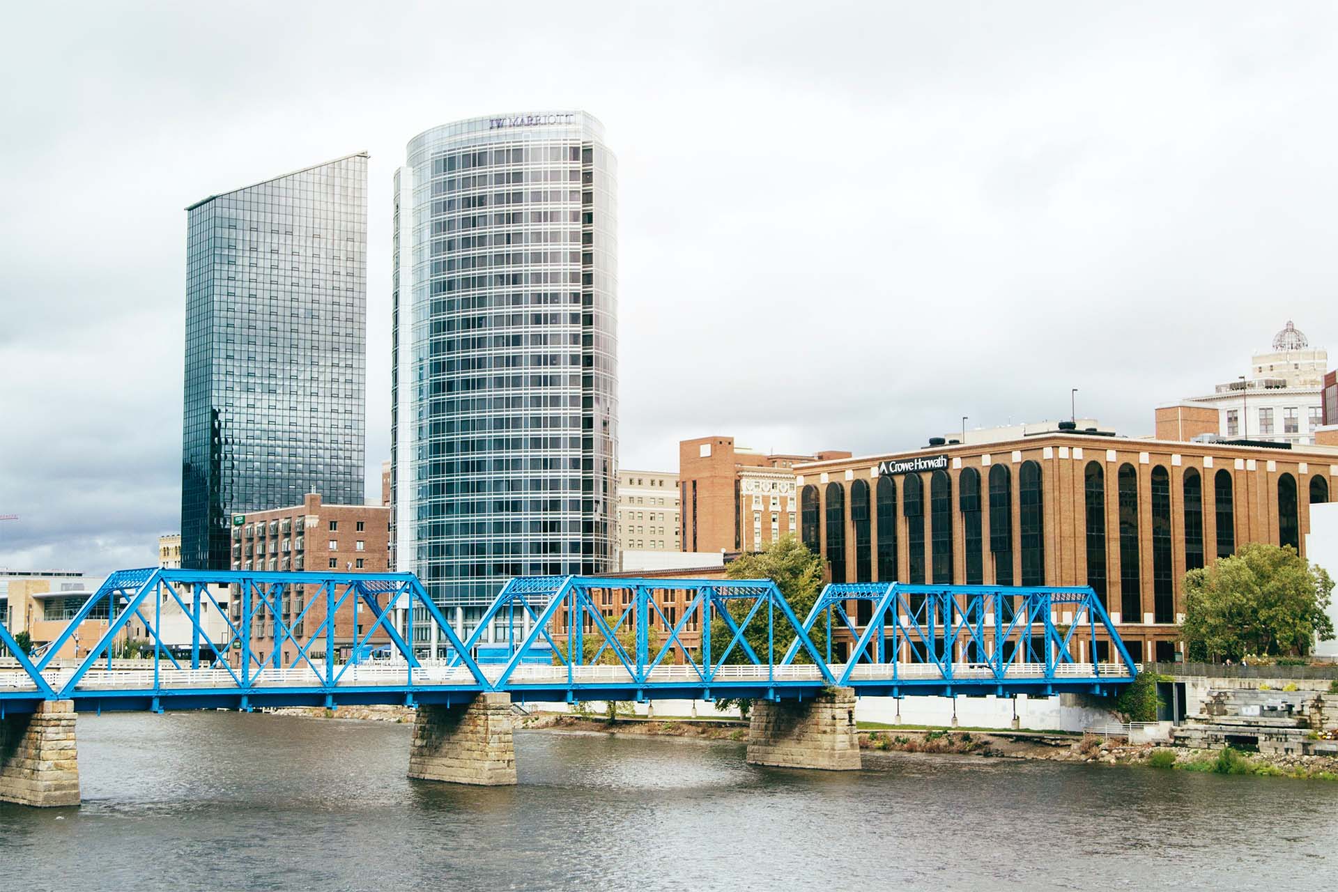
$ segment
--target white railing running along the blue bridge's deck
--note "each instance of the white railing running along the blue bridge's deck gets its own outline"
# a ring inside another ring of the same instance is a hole
[[[483,674],[490,682],[496,683],[504,671],[498,665],[482,666]],[[234,670],[240,675],[240,670]],[[343,671],[343,674],[340,674]],[[842,678],[846,665],[835,663],[830,666],[834,678]],[[72,667],[48,669],[41,675],[54,689],[63,689],[74,677]],[[1111,678],[1124,679],[1131,674],[1123,663],[1060,663],[1053,670],[1053,678],[1088,679]],[[379,686],[405,686],[411,682],[415,686],[424,685],[459,685],[470,686],[475,683],[474,675],[466,666],[446,666],[442,663],[415,667],[412,673],[405,663],[391,665],[353,665],[336,667],[339,687],[379,687]],[[1009,666],[1004,674],[1005,679],[1044,679],[1046,677],[1045,663],[1016,663]],[[633,674],[621,663],[613,666],[575,666],[570,670],[566,666],[535,666],[520,665],[507,679],[508,686],[524,687],[527,685],[565,685],[567,679],[581,685],[630,685],[636,683]],[[987,663],[954,663],[951,675],[943,674],[935,663],[858,663],[850,674],[851,681],[993,681],[995,678],[993,667]],[[191,689],[235,689],[237,679],[226,669],[163,669],[159,667],[157,675],[151,667],[132,669],[91,669],[79,679],[75,690],[146,690],[157,687],[162,690],[191,690]],[[822,671],[814,665],[751,666],[727,665],[721,666],[712,677],[710,683],[747,683],[747,682],[805,682],[822,681]],[[692,685],[702,683],[697,669],[690,665],[657,666],[650,670],[646,683],[649,685]],[[265,687],[324,687],[324,673],[317,673],[309,666],[288,669],[262,669],[253,679],[252,686]],[[36,690],[32,679],[23,671],[0,669],[0,690]]]

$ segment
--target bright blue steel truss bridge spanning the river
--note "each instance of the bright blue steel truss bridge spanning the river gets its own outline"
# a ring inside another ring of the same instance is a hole
[[[58,659],[92,615],[106,631]],[[169,615],[189,626],[189,646],[165,639]],[[340,618],[356,630],[343,650]],[[119,657],[131,622],[149,653]],[[264,650],[258,629],[270,638]],[[340,659],[373,646],[377,659]],[[831,584],[799,617],[769,579],[527,576],[462,639],[412,574],[149,568],[111,574],[40,655],[0,626],[0,718],[44,701],[161,711],[452,705],[479,694],[804,701],[828,687],[1109,694],[1136,673],[1100,599],[1065,587]]]

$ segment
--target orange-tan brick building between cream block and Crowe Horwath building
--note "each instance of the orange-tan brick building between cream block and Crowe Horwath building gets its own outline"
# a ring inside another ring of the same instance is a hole
[[[678,444],[682,551],[761,551],[797,534],[793,467],[850,452],[767,455],[713,436]]]

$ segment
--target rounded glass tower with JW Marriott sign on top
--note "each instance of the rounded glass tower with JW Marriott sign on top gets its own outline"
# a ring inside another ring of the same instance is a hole
[[[395,174],[395,559],[463,631],[615,566],[617,163],[581,111],[472,118]]]

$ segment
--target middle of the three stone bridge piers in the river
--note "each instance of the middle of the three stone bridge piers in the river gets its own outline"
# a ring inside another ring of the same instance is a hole
[[[512,725],[510,694],[419,706],[409,744],[409,777],[480,786],[515,784]]]

